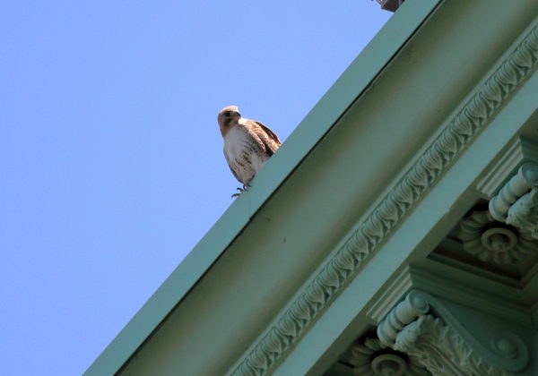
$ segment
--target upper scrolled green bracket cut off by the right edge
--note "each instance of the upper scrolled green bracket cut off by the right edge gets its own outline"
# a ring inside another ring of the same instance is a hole
[[[538,239],[538,165],[525,163],[490,200],[491,217]]]

